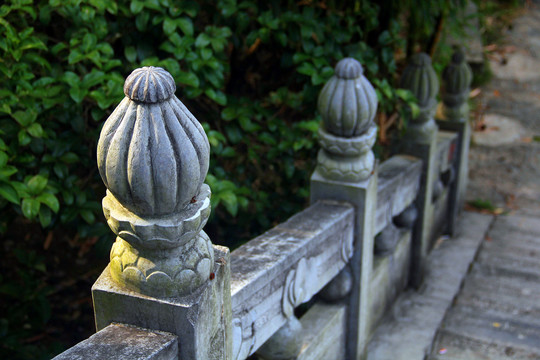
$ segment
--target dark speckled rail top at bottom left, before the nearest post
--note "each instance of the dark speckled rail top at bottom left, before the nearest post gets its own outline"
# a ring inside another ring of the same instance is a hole
[[[170,333],[111,324],[54,358],[87,359],[177,360],[178,339]]]

